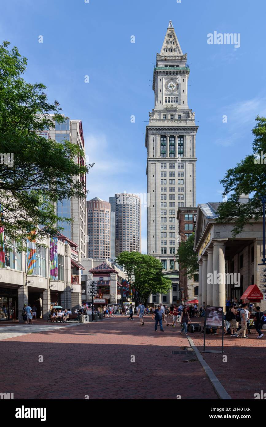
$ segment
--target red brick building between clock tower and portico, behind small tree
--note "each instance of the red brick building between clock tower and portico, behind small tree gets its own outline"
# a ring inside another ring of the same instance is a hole
[[[179,243],[185,242],[195,231],[197,220],[197,207],[178,208],[177,224]],[[188,301],[199,297],[199,274],[195,272],[193,278],[188,278],[184,269],[179,266],[179,300]]]

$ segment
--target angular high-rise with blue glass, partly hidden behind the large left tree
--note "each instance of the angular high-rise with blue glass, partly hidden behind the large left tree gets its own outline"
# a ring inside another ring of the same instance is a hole
[[[64,123],[55,123],[55,129],[49,129],[50,137],[58,142],[69,140],[77,144],[83,151],[84,156],[76,158],[80,165],[86,163],[84,137],[81,120],[71,120],[66,118]],[[78,250],[81,257],[87,257],[87,210],[86,210],[86,174],[75,177],[78,181],[84,183],[84,198],[64,199],[56,204],[57,216],[72,219],[72,222],[58,221],[58,225],[63,228],[61,233],[68,239],[78,243]]]

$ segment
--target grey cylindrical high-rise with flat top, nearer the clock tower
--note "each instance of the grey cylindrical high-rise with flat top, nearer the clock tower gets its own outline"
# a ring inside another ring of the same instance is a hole
[[[109,197],[116,216],[116,256],[123,251],[141,252],[141,202],[136,194]]]

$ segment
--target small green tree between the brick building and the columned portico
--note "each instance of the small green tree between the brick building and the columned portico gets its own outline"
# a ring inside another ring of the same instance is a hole
[[[199,269],[198,257],[194,252],[194,240],[195,233],[192,233],[185,242],[179,244],[176,252],[179,269],[183,270],[182,273],[188,276],[188,279],[193,279],[194,273]]]

